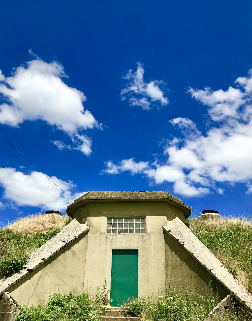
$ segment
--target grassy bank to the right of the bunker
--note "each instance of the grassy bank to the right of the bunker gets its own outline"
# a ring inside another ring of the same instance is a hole
[[[190,230],[252,293],[252,224],[250,220],[186,220]]]

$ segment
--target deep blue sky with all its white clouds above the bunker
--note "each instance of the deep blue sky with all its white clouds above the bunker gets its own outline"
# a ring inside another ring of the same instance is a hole
[[[249,1],[26,1],[0,12],[0,132],[72,198],[165,190],[252,211]],[[72,199],[0,137],[0,222]]]

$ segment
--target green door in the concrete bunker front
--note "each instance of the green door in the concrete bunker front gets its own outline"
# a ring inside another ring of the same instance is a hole
[[[111,306],[138,297],[138,250],[112,250]]]

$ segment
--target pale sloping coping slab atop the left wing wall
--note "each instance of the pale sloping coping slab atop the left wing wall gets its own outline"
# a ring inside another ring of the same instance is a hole
[[[30,272],[34,271],[41,264],[49,260],[52,256],[67,247],[68,244],[78,239],[90,229],[79,217],[76,217],[60,230],[55,236],[31,254],[25,267],[18,273],[5,276],[0,280],[0,295],[10,289],[14,284],[22,280]]]

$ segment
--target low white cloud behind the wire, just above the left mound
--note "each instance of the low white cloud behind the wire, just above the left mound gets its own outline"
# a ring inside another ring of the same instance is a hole
[[[71,181],[63,181],[55,176],[48,176],[55,184],[74,199],[85,194],[72,194],[75,187]],[[0,186],[4,188],[3,198],[10,204],[34,206],[44,210],[66,210],[73,200],[49,181],[41,172],[33,171],[25,175],[15,168],[0,168]]]

